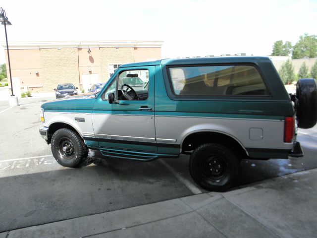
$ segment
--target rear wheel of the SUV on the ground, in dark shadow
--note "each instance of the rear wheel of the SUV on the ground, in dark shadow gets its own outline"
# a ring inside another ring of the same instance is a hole
[[[208,143],[197,147],[190,156],[189,170],[194,181],[210,191],[228,190],[240,175],[240,162],[221,144]]]

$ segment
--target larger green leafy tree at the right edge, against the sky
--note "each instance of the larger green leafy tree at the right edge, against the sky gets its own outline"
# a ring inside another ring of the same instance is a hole
[[[317,56],[317,36],[305,33],[299,37],[299,41],[293,49],[293,59],[302,59],[304,57],[315,58]]]

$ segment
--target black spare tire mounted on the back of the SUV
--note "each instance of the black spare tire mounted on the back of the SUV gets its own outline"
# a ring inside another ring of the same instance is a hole
[[[296,85],[296,120],[300,128],[311,128],[317,122],[317,88],[313,78],[298,80]]]

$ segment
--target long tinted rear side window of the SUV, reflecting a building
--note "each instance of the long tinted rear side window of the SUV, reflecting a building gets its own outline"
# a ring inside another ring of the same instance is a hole
[[[251,65],[170,67],[169,75],[176,95],[269,95],[260,73]]]

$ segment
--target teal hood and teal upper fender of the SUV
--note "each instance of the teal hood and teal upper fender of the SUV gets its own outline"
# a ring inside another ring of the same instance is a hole
[[[83,93],[67,98],[57,99],[52,102],[42,104],[44,111],[51,112],[86,112],[93,110],[96,101],[93,93]]]

